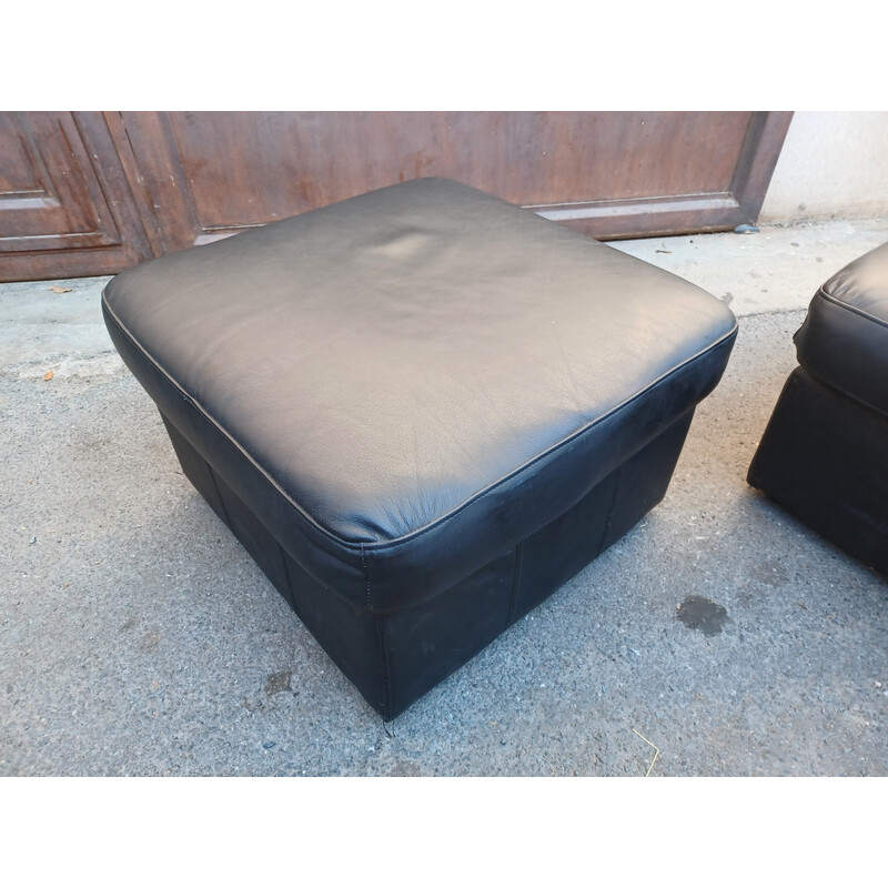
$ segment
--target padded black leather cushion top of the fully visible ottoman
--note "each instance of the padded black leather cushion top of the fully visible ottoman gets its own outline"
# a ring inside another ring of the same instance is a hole
[[[371,608],[564,512],[712,391],[736,333],[697,286],[440,179],[151,261],[103,305]]]

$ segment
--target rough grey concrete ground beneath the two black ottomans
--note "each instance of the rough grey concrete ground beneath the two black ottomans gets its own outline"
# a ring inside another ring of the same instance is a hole
[[[745,482],[814,291],[887,241],[615,243],[740,316],[725,379],[665,501],[389,726],[183,477],[108,279],[0,285],[0,775],[888,775],[888,581]]]

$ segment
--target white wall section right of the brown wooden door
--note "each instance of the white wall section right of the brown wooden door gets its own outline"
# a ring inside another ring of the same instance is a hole
[[[764,223],[888,218],[888,112],[796,111]]]

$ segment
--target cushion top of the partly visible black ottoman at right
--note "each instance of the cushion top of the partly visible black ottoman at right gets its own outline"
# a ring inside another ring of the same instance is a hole
[[[820,287],[795,343],[801,366],[888,416],[888,244]]]

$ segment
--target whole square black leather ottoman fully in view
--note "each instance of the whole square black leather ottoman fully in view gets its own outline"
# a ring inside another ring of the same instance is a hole
[[[441,179],[102,303],[188,477],[385,719],[659,502],[736,334],[693,284]]]

